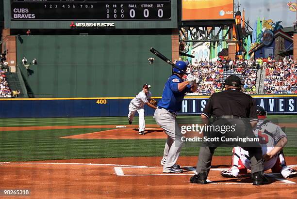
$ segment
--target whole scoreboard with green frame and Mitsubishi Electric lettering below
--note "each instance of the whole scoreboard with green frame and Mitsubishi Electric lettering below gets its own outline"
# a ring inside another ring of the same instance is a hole
[[[177,0],[7,0],[4,15],[5,28],[177,28]]]

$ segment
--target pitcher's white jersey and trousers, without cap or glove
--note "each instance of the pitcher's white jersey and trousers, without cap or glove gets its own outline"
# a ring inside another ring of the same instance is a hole
[[[148,91],[148,95],[146,95],[144,91],[141,91],[131,100],[129,104],[128,119],[132,122],[136,111],[139,114],[139,132],[142,132],[145,129],[144,105],[149,102],[150,98],[151,92]]]

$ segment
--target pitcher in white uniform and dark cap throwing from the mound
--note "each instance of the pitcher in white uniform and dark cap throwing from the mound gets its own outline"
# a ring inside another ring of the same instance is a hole
[[[157,109],[157,102],[151,99],[151,92],[148,91],[149,88],[150,85],[144,84],[142,91],[139,92],[129,104],[128,121],[129,124],[132,124],[133,117],[137,111],[139,115],[139,135],[145,135],[144,105],[147,104],[148,107]]]

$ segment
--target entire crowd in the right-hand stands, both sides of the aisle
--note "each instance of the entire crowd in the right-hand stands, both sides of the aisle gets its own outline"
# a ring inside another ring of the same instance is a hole
[[[264,93],[285,94],[297,93],[297,61],[284,58],[258,58],[256,60],[237,61],[197,61],[188,64],[187,73],[199,77],[201,83],[193,95],[210,95],[224,89],[224,80],[229,75],[241,77],[243,92],[256,93],[257,70],[265,73]]]

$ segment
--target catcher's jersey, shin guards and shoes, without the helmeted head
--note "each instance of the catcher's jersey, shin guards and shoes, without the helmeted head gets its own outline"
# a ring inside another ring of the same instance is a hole
[[[279,125],[263,120],[257,123],[254,134],[260,139],[263,155],[269,153],[281,138],[287,137]],[[251,169],[247,151],[240,147],[234,147],[232,152],[232,167],[222,172],[224,177],[237,177],[242,171]],[[287,167],[282,151],[269,161],[264,162],[264,170],[268,169],[281,173],[284,178],[297,174],[296,170]]]

